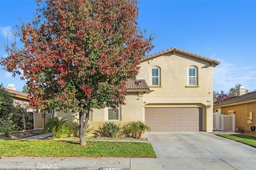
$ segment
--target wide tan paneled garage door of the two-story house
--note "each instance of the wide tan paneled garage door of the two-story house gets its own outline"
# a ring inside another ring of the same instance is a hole
[[[202,107],[145,108],[145,123],[151,131],[202,131]]]

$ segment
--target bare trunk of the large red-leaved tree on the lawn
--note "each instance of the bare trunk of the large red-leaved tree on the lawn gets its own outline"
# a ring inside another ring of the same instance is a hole
[[[88,113],[80,113],[79,112],[79,122],[80,122],[80,145],[86,145],[86,127],[89,120],[90,109],[88,109]],[[84,121],[85,117],[85,121]]]

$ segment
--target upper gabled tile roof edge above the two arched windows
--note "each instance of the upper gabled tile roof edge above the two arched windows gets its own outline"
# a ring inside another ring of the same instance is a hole
[[[147,57],[144,57],[143,59],[141,59],[140,61],[147,61],[148,59],[153,59],[154,57],[158,57],[159,55],[163,55],[163,54],[166,54],[166,53],[169,53],[169,52],[173,52],[175,53],[176,51],[180,52],[180,53],[184,53],[186,55],[190,55],[192,57],[196,57],[198,59],[203,59],[203,60],[206,60],[206,61],[209,61],[211,63],[211,66],[217,66],[218,64],[220,64],[220,61],[217,61],[217,60],[214,60],[214,59],[210,59],[210,58],[207,58],[207,57],[204,57],[202,55],[197,55],[197,54],[194,54],[194,53],[190,53],[188,51],[184,51],[182,49],[178,49],[176,47],[172,47],[170,49],[167,49],[167,50],[164,50],[164,51],[160,51],[158,53],[154,53],[152,55],[149,55]]]

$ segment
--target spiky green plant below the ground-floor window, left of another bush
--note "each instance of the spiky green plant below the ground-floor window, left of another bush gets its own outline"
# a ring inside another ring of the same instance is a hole
[[[107,137],[117,137],[119,131],[122,129],[122,126],[116,125],[114,122],[104,122],[102,129],[106,131]]]

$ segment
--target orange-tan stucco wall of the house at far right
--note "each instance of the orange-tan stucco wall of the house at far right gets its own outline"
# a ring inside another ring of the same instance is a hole
[[[217,109],[218,106],[216,106]],[[237,104],[233,106],[218,107],[221,108],[221,114],[228,115],[229,110],[234,110],[236,114],[236,125],[235,127],[243,127],[243,133],[249,135],[256,135],[256,131],[251,131],[251,126],[256,126],[256,102]],[[220,109],[218,109],[219,111]],[[247,122],[250,111],[253,112],[252,123]]]

